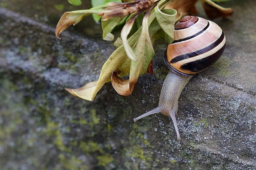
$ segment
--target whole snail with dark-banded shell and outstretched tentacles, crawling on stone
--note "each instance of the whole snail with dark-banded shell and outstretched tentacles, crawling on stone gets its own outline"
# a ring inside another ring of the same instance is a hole
[[[194,74],[220,58],[225,45],[226,37],[216,23],[196,16],[184,16],[178,21],[174,27],[174,41],[164,52],[164,61],[170,71],[162,86],[159,105],[136,117],[134,122],[161,112],[172,118],[177,139],[180,140],[176,122],[180,94]]]

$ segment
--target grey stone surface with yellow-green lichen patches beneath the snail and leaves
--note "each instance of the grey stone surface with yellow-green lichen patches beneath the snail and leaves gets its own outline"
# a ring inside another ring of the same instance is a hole
[[[166,45],[155,45],[154,74],[140,76],[131,96],[119,96],[107,83],[92,102],[74,98],[64,87],[97,80],[112,42],[101,39],[91,17],[64,31],[62,40],[55,37],[60,16],[88,9],[90,1],[34,3],[0,0],[2,169],[256,168],[254,0],[222,4],[234,10],[232,18],[215,20],[226,50],[183,90],[180,141],[172,120],[160,113],[132,121],[158,105]],[[198,6],[198,16],[206,17]]]

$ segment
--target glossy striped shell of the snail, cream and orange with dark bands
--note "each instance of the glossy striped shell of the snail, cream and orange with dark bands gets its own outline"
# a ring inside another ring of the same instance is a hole
[[[185,16],[174,28],[174,41],[164,53],[168,68],[180,76],[192,76],[215,63],[222,55],[226,37],[214,22]]]

